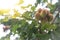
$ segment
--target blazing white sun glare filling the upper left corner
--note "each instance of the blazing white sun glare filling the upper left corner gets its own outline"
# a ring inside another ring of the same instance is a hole
[[[0,9],[13,8],[19,0],[0,0]]]

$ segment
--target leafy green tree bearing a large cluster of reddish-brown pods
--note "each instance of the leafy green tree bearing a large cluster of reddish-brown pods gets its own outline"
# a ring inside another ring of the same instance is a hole
[[[53,10],[55,5],[47,5],[51,10],[39,8],[35,11],[38,4],[42,5],[47,2],[47,0],[37,0],[35,6],[28,5],[25,8],[30,8],[30,11],[26,11],[20,14],[16,9],[14,9],[15,14],[13,16],[7,16],[7,21],[5,19],[1,20],[4,25],[9,25],[11,33],[19,34],[19,40],[49,40],[51,38],[51,32],[56,30],[56,25],[52,24]],[[20,3],[21,4],[21,3]],[[19,5],[19,4],[18,4]],[[53,10],[54,11],[54,10]],[[10,19],[9,19],[10,17]],[[4,28],[6,30],[6,28]]]

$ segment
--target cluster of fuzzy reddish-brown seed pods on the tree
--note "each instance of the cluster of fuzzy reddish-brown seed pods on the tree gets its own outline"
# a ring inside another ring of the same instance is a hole
[[[46,9],[38,9],[38,11],[35,14],[35,18],[37,20],[49,22],[53,19],[53,15],[50,13],[50,11]]]

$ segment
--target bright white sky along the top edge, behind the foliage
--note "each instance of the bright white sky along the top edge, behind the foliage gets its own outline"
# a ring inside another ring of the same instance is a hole
[[[18,2],[19,2],[19,0],[0,0],[0,9],[13,8],[16,6],[16,4]],[[36,0],[24,0],[24,3],[22,5],[24,5],[24,6],[26,6],[28,4],[34,5],[35,2],[36,2]],[[53,4],[56,2],[57,2],[57,0],[53,0]]]

